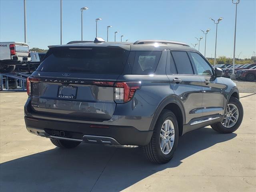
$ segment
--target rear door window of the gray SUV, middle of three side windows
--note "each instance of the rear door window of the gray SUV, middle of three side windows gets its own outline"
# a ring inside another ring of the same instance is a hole
[[[188,54],[185,51],[172,51],[178,74],[194,74]]]

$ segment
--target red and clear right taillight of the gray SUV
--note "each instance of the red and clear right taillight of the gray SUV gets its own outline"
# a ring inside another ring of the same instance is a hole
[[[116,82],[114,84],[114,101],[126,103],[132,99],[137,89],[140,89],[141,82]]]

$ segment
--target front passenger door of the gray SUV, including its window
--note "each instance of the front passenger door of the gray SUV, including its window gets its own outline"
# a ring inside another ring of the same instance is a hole
[[[222,82],[222,77],[214,77],[213,68],[198,52],[189,52],[189,54],[196,73],[203,82],[203,115],[222,115],[224,112],[224,89],[227,86]]]

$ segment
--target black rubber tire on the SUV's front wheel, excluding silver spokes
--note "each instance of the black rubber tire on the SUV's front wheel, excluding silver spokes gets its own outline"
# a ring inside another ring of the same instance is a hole
[[[236,106],[237,110],[238,110],[238,118],[236,120],[236,123],[234,125],[232,125],[231,127],[227,127],[224,126],[225,121],[224,122],[218,122],[216,124],[211,125],[211,127],[213,128],[213,130],[219,132],[219,133],[232,133],[234,131],[236,131],[239,126],[242,123],[243,120],[243,116],[244,116],[244,110],[243,110],[243,106],[241,104],[241,102],[235,98],[235,97],[231,97],[230,100],[228,101],[228,104],[231,104],[232,106]],[[225,109],[226,112],[227,109]],[[225,118],[227,118],[227,115],[225,114]],[[232,120],[234,120],[234,118],[230,118]],[[232,122],[231,122],[232,123]]]

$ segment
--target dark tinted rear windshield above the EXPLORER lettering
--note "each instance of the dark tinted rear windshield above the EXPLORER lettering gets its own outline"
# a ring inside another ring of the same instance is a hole
[[[121,48],[51,48],[37,71],[122,74],[127,57]]]

